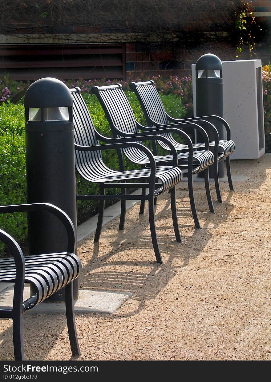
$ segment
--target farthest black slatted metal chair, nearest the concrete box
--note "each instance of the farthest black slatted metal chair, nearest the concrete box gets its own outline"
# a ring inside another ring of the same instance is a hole
[[[218,162],[220,160],[226,159],[226,168],[227,168],[227,177],[229,182],[230,190],[233,190],[232,185],[232,176],[230,171],[230,158],[229,155],[232,154],[232,152],[235,150],[235,143],[230,139],[230,126],[223,118],[215,116],[215,115],[209,115],[204,117],[197,117],[197,118],[182,118],[182,119],[176,119],[170,117],[168,113],[165,111],[165,107],[163,105],[163,102],[158,94],[158,91],[155,87],[154,81],[144,81],[144,82],[132,82],[129,84],[129,87],[132,89],[132,91],[135,92],[139,103],[143,109],[147,125],[149,127],[152,127],[154,129],[157,128],[157,126],[165,126],[171,123],[171,126],[174,125],[176,127],[176,124],[178,123],[186,123],[191,121],[196,121],[196,123],[199,123],[202,127],[204,127],[204,121],[219,123],[222,124],[225,127],[226,133],[227,133],[227,139],[222,139],[218,141],[218,150],[217,154],[215,154],[215,161],[214,161],[214,180],[215,180],[215,189],[217,193],[217,200],[219,202],[222,202],[220,189],[219,189],[219,178],[218,178]],[[210,131],[215,132],[214,127],[210,124],[206,124],[206,129],[210,129]],[[208,130],[207,130],[208,131]],[[181,145],[180,143],[176,142],[176,140],[173,138],[171,133],[165,134],[165,136],[174,144],[177,151],[186,151],[187,147],[184,145]],[[217,137],[217,132],[215,132],[215,136]],[[163,142],[159,142],[160,145],[164,148],[165,145]],[[215,141],[209,142],[210,147],[214,147],[216,145]],[[196,143],[193,145],[194,149],[202,149],[204,147],[204,143]]]

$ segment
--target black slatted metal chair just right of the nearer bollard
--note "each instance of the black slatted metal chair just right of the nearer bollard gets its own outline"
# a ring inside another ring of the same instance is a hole
[[[171,213],[173,219],[173,228],[175,237],[178,242],[181,242],[180,231],[178,227],[178,219],[176,212],[175,201],[175,186],[182,179],[182,172],[177,165],[177,152],[173,145],[168,142],[172,150],[171,164],[168,166],[156,167],[155,160],[150,150],[135,140],[148,140],[151,137],[145,134],[144,137],[138,138],[119,138],[113,139],[104,137],[95,129],[87,105],[80,94],[80,89],[75,87],[70,89],[73,97],[73,122],[75,131],[75,165],[80,175],[91,183],[100,185],[100,194],[98,195],[77,195],[78,200],[100,200],[100,209],[98,214],[98,223],[94,241],[99,241],[102,223],[105,200],[147,200],[149,202],[149,221],[150,233],[152,237],[153,249],[158,263],[162,264],[162,257],[157,241],[154,218],[154,199],[164,193],[170,191]],[[99,144],[99,140],[106,144]],[[163,138],[167,142],[166,138]],[[125,171],[124,167],[121,171],[115,171],[106,166],[103,162],[101,151],[108,149],[131,149],[142,152],[150,163],[149,168],[142,170]],[[142,183],[144,181],[144,183]],[[114,182],[114,183],[113,183]],[[131,194],[105,194],[106,188],[148,188],[141,195]],[[141,183],[140,183],[141,182]],[[147,183],[145,183],[147,182]],[[125,214],[124,214],[125,216]],[[121,219],[124,219],[122,215]],[[123,227],[124,220],[120,223]]]

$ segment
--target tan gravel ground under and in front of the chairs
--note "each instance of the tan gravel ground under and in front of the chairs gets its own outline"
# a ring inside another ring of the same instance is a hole
[[[232,161],[223,204],[208,212],[204,183],[194,183],[202,225],[195,230],[187,184],[177,190],[183,243],[176,243],[168,194],[157,202],[163,265],[156,264],[147,210],[127,212],[79,243],[83,289],[132,292],[114,314],[77,314],[80,357],[72,357],[65,315],[24,316],[28,360],[271,360],[271,155]],[[87,251],[87,252],[86,252]],[[0,359],[13,359],[11,320],[2,319]]]

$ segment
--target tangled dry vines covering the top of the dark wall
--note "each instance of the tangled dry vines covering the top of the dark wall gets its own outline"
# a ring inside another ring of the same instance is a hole
[[[134,41],[155,33],[192,50],[215,38],[231,40],[237,58],[245,48],[254,52],[256,29],[245,0],[13,0],[2,2],[0,13],[2,34],[106,33],[107,42],[119,42],[119,33]]]

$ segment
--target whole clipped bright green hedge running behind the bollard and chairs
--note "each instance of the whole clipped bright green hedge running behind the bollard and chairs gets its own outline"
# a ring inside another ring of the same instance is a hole
[[[82,93],[90,110],[91,117],[97,130],[105,135],[112,136],[108,121],[103,109],[95,95]],[[142,109],[133,92],[126,95],[134,110],[135,117],[141,124],[145,124]],[[185,115],[185,109],[180,97],[161,94],[165,108],[173,117]],[[19,204],[26,202],[26,167],[25,167],[25,134],[24,134],[24,106],[23,103],[3,103],[0,106],[0,205]],[[118,169],[118,157],[115,151],[103,152],[104,162],[108,167]],[[138,168],[137,165],[126,160],[126,168]],[[85,181],[77,174],[77,193],[96,194],[98,187]],[[112,189],[111,192],[114,192]],[[108,203],[110,204],[110,202]],[[90,215],[95,214],[97,202],[78,201],[78,222],[83,222]],[[26,214],[0,214],[0,227],[7,230],[21,243],[27,236]],[[1,248],[1,246],[0,246]]]

